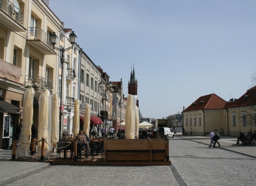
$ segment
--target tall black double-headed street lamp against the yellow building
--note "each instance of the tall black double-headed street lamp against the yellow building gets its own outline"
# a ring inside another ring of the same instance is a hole
[[[62,115],[62,112],[61,112],[61,106],[62,106],[62,76],[63,76],[64,52],[69,50],[69,49],[71,49],[71,48],[73,48],[73,46],[74,46],[74,44],[76,42],[77,36],[75,35],[74,32],[69,34],[69,40],[70,40],[70,43],[71,43],[72,46],[70,46],[70,47],[68,47],[66,49],[55,47],[55,45],[57,43],[57,39],[58,39],[58,37],[57,37],[55,32],[51,34],[50,38],[51,38],[51,43],[54,46],[54,49],[56,49],[56,50],[61,52],[61,103],[60,103],[60,126],[59,126],[60,127],[60,129],[59,129],[59,132],[60,132],[60,139],[59,139],[59,141],[61,141],[61,135],[62,135],[62,130],[61,130],[61,126],[62,126],[61,125],[61,115]]]

